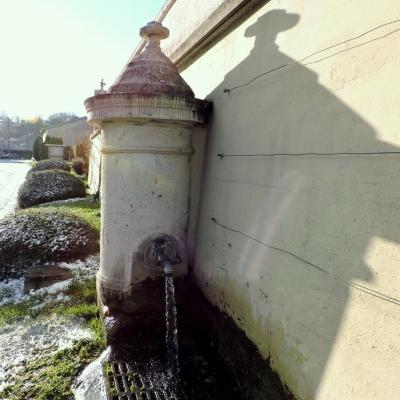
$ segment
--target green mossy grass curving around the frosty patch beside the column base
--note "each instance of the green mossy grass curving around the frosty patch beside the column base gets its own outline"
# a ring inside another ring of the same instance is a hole
[[[44,354],[28,362],[16,376],[15,382],[0,392],[0,399],[72,399],[71,387],[75,378],[103,351],[105,339],[96,304],[94,278],[85,282],[72,281],[66,294],[71,296],[68,303],[48,305],[40,311],[30,309],[29,301],[0,309],[2,323],[26,315],[37,317],[56,313],[84,318],[92,332],[90,340],[76,341],[72,348],[58,351],[50,357]],[[1,314],[4,309],[8,311]]]

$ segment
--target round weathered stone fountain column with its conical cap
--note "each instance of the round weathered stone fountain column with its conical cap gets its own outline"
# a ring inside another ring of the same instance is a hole
[[[163,275],[144,253],[154,239],[177,248],[177,276],[187,272],[191,130],[208,103],[194,94],[160,40],[168,30],[141,29],[148,44],[106,93],[85,101],[88,122],[101,129],[101,254],[98,290],[111,309],[143,308],[144,285]]]

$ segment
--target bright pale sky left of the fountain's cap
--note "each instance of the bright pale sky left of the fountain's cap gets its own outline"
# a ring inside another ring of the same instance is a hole
[[[117,78],[164,0],[0,0],[0,111],[84,116]]]

